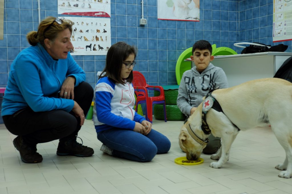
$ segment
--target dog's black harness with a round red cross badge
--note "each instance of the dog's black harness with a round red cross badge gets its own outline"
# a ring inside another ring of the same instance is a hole
[[[201,129],[205,134],[211,134],[211,130],[207,124],[207,120],[206,120],[206,114],[207,112],[213,108],[215,111],[218,112],[223,112],[219,102],[212,96],[212,92],[214,90],[217,90],[219,87],[216,87],[213,90],[210,90],[208,92],[208,94],[206,95],[206,99],[204,100],[203,104],[202,104],[202,125],[201,125]],[[233,123],[232,123],[233,124]],[[238,130],[240,130],[235,124],[233,124],[234,127],[236,127]]]

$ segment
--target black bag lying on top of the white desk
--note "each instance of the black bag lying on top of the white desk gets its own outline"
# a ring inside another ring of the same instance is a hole
[[[241,54],[249,54],[249,53],[262,53],[262,52],[284,52],[288,48],[287,45],[279,44],[275,46],[265,45],[259,42],[253,42],[258,45],[249,45],[245,47]],[[260,46],[263,45],[263,46]]]

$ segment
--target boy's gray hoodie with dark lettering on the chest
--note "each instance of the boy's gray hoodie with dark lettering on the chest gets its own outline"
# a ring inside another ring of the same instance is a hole
[[[194,66],[191,70],[183,73],[178,88],[177,105],[186,116],[190,115],[192,107],[198,107],[207,93],[219,88],[228,88],[227,77],[223,69],[209,63],[208,67],[201,73]]]

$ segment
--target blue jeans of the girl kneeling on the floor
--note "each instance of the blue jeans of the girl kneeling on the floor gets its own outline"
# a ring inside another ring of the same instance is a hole
[[[128,129],[108,129],[98,132],[97,138],[113,149],[113,156],[138,162],[151,161],[156,154],[167,153],[171,146],[168,138],[154,129],[146,136]]]

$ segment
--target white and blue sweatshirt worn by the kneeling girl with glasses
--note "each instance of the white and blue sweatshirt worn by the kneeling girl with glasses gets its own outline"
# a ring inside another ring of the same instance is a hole
[[[135,93],[132,83],[114,83],[108,77],[98,80],[94,88],[93,124],[96,132],[107,129],[131,129],[135,122],[146,120],[133,109]]]

